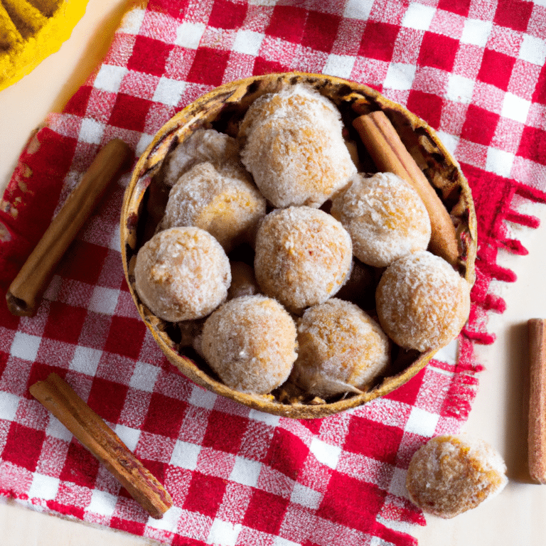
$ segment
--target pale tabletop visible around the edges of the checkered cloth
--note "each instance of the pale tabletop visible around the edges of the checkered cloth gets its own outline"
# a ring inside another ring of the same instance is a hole
[[[89,0],[87,12],[70,40],[23,80],[0,92],[0,191],[9,181],[31,131],[48,112],[59,111],[107,51],[128,0]],[[499,264],[513,269],[518,281],[497,283],[508,309],[491,316],[497,340],[478,348],[486,370],[464,432],[482,438],[504,457],[510,482],[500,496],[451,520],[427,518],[412,530],[422,546],[542,546],[546,537],[546,486],[529,483],[526,469],[525,392],[527,389],[527,320],[546,316],[542,287],[546,256],[546,205],[529,205],[538,216],[537,230],[518,228],[513,236],[528,248],[528,256],[501,252]],[[0,502],[3,546],[137,546],[154,541],[91,527],[85,523]]]

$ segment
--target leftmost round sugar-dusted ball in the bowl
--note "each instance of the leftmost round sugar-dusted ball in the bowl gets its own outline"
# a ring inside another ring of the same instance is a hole
[[[170,228],[141,247],[134,282],[140,299],[159,318],[200,319],[225,301],[230,262],[208,232]]]

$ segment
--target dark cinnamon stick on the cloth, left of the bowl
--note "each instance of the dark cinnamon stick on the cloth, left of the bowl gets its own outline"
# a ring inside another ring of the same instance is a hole
[[[55,267],[99,203],[108,184],[127,168],[130,154],[131,149],[120,139],[109,141],[99,151],[11,283],[6,300],[12,314],[36,314]]]

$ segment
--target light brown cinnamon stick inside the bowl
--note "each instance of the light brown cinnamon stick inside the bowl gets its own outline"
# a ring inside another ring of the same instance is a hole
[[[397,174],[417,191],[427,208],[432,226],[429,249],[455,267],[459,258],[459,248],[449,213],[423,171],[407,151],[388,117],[382,110],[377,110],[355,118],[353,127],[379,171]]]

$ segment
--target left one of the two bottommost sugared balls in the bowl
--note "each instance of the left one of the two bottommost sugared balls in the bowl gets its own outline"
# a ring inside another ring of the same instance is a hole
[[[201,350],[220,379],[264,395],[287,380],[296,360],[296,325],[279,302],[262,295],[232,299],[205,321]]]

